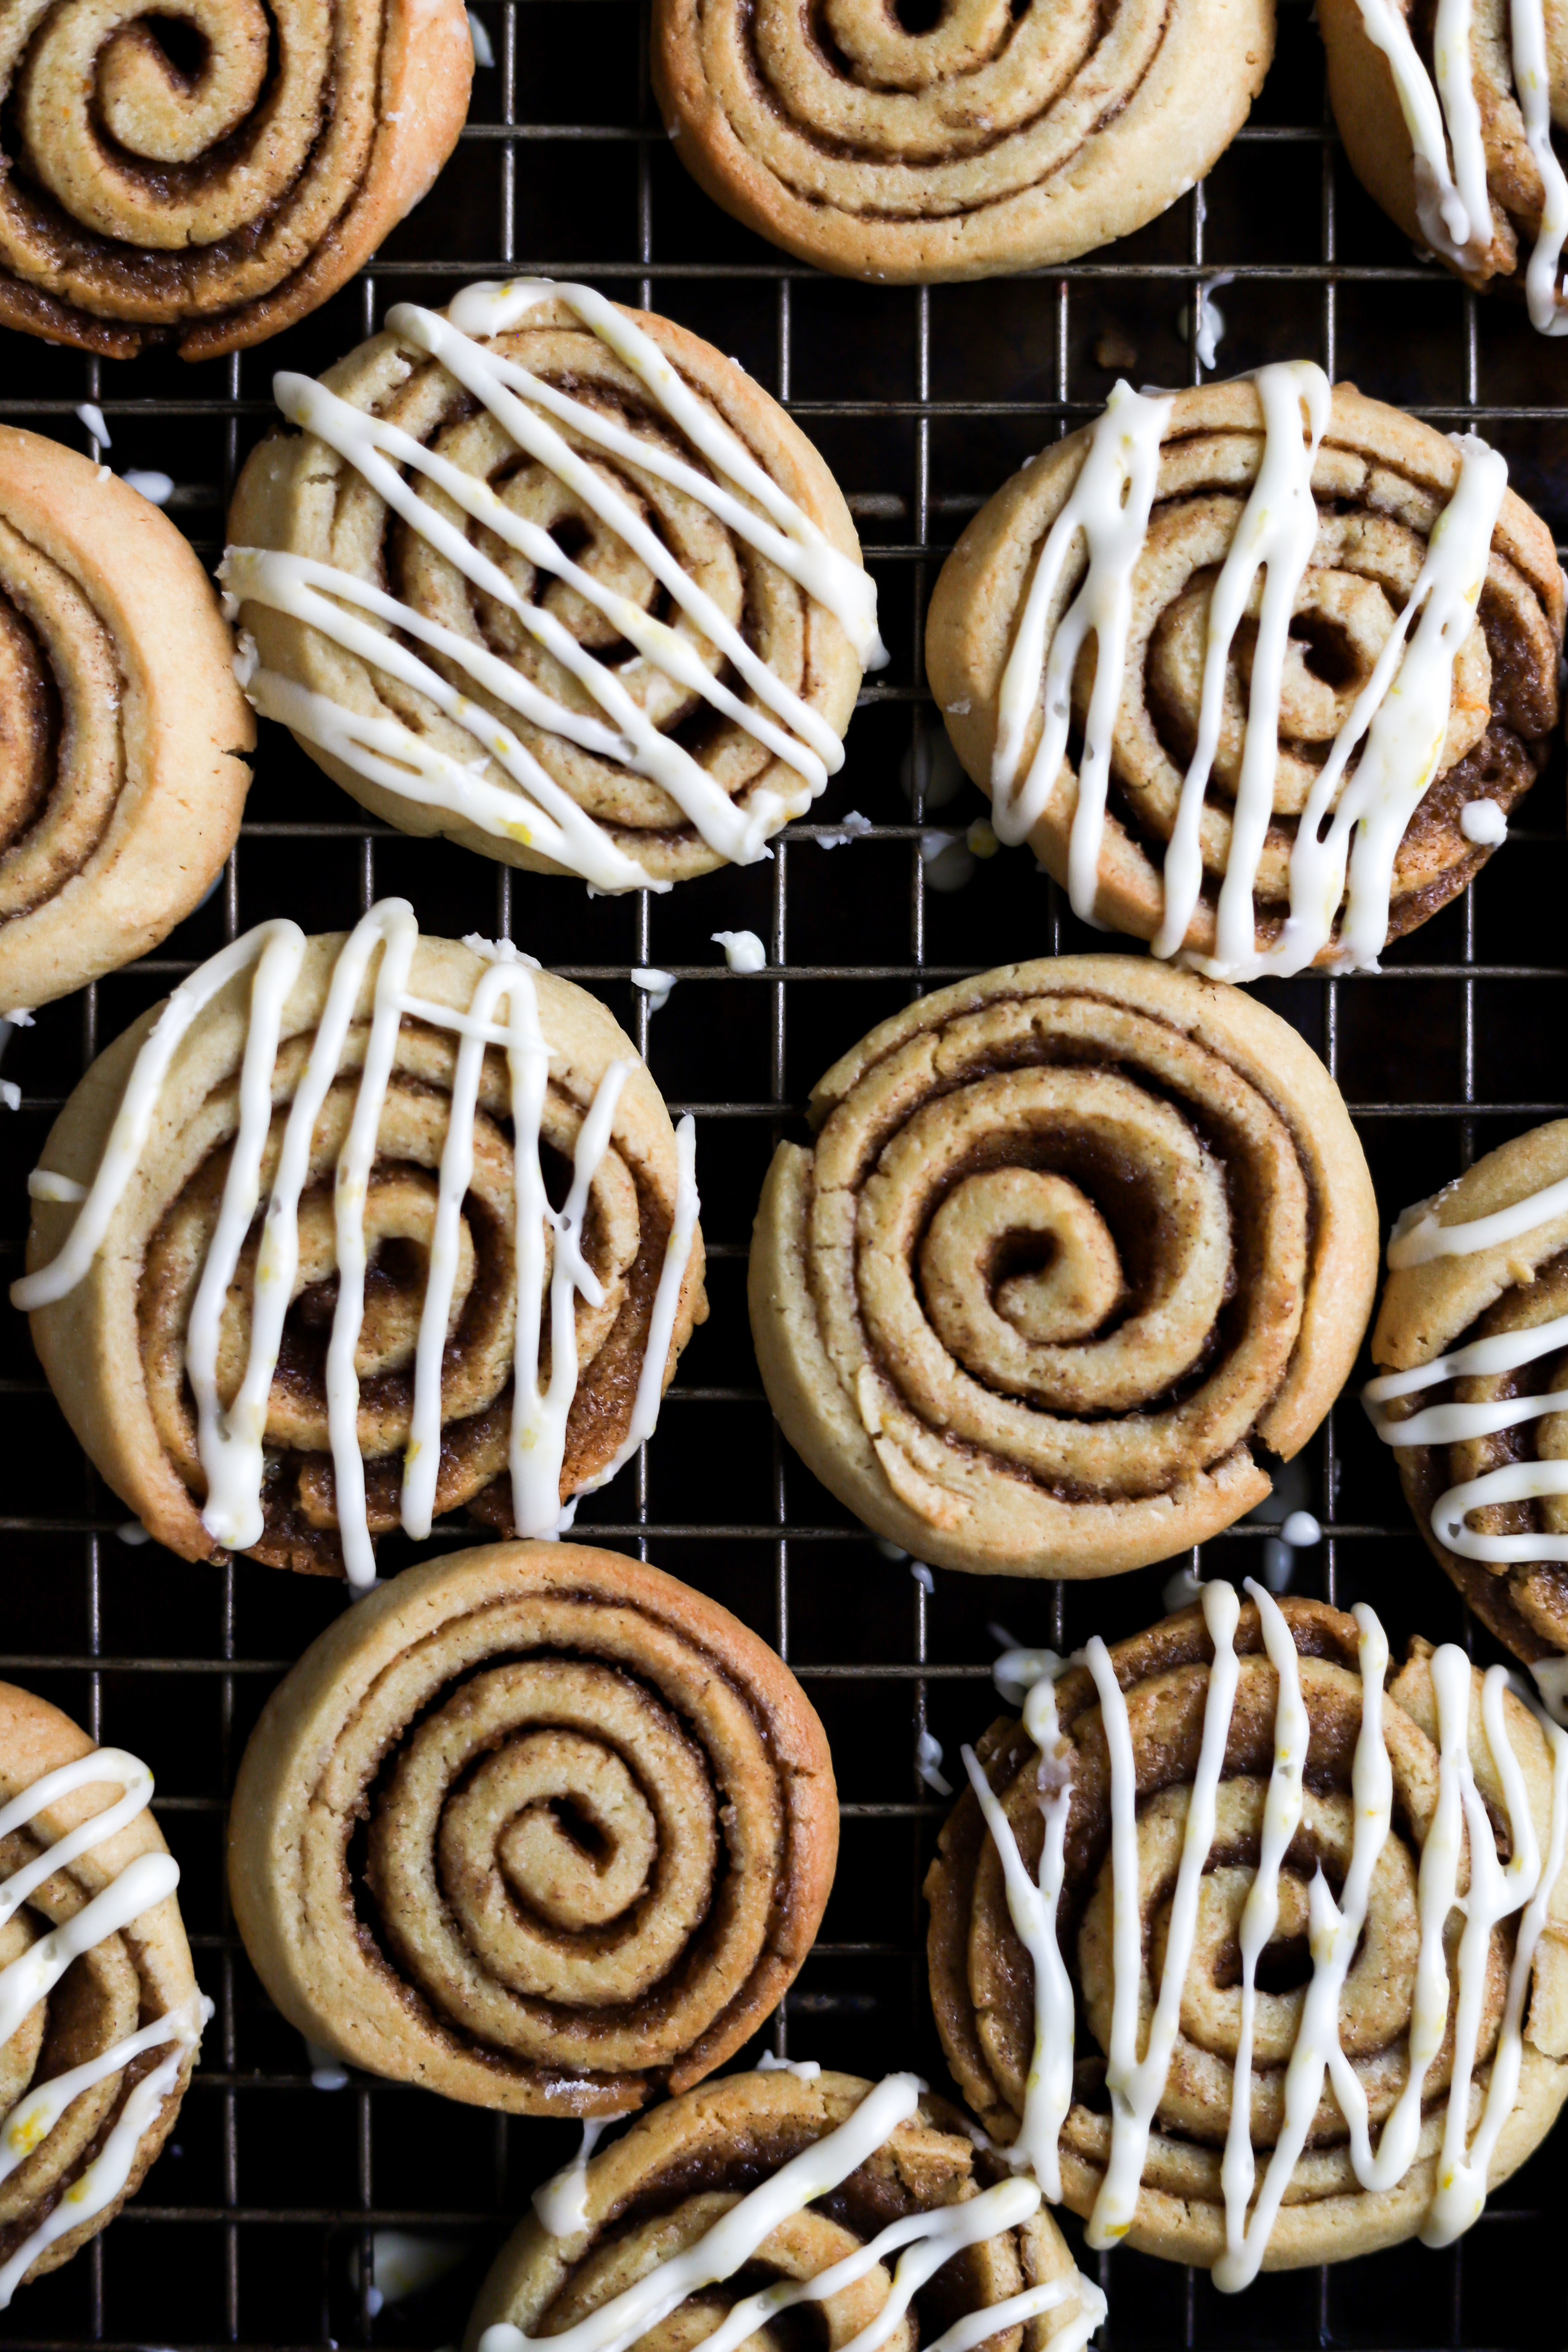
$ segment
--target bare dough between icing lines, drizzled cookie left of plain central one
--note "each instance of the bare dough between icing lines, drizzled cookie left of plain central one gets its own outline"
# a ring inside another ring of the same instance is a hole
[[[301,1084],[308,1044],[327,1002],[343,938],[313,938],[289,993],[275,1115],[263,1183],[277,1157],[287,1103]],[[414,950],[411,993],[425,1002],[468,1007],[484,962],[456,941],[421,938]],[[195,1423],[183,1376],[186,1317],[205,1261],[237,1127],[237,1073],[249,1023],[252,974],[237,974],[197,1014],[160,1091],[153,1131],[139,1171],[115,1209],[89,1272],[54,1305],[33,1312],[33,1345],[66,1418],[94,1463],[148,1531],[186,1559],[221,1559],[202,1526],[205,1477],[195,1454]],[[254,1559],[303,1573],[341,1576],[343,1555],[324,1435],[322,1317],[315,1301],[336,1268],[329,1185],[336,1150],[348,1131],[355,1073],[362,1065],[374,969],[367,974],[341,1061],[315,1129],[310,1183],[301,1202],[301,1275],[284,1327],[284,1355],[268,1404],[266,1531]],[[611,1138],[592,1183],[588,1251],[602,1275],[604,1303],[578,1298],[578,1388],[567,1423],[562,1501],[604,1470],[628,1428],[646,1345],[665,1242],[675,1223],[677,1152],[670,1115],[637,1049],[571,981],[536,976],[538,1014],[550,1044],[543,1141],[567,1160],[583,1115],[611,1061],[625,1061]],[[82,1077],[49,1131],[42,1167],[89,1183],[129,1082],[136,1051],[162,1007],[136,1021]],[[393,1084],[378,1124],[367,1235],[374,1244],[416,1240],[411,1261],[388,1256],[376,1305],[376,1378],[360,1402],[360,1442],[367,1458],[369,1526],[397,1524],[402,1449],[411,1409],[411,1352],[423,1305],[423,1242],[433,1216],[435,1171],[447,1134],[456,1065],[449,1030],[404,1021]],[[475,1169],[463,1218],[468,1282],[463,1319],[447,1345],[442,1395],[440,1512],[473,1505],[510,1534],[510,1303],[512,1275],[512,1157],[508,1141],[510,1091],[491,1049],[475,1115]],[[33,1204],[28,1265],[45,1265],[63,1244],[75,1209]],[[249,1338],[249,1282],[256,1230],[242,1254],[235,1303],[226,1317],[221,1383],[237,1390]],[[315,1261],[310,1258],[315,1249]],[[397,1270],[402,1265],[402,1272]],[[665,1385],[691,1329],[708,1312],[701,1232],[691,1249]],[[369,1331],[369,1327],[367,1327]],[[223,1369],[226,1367],[226,1369]]]

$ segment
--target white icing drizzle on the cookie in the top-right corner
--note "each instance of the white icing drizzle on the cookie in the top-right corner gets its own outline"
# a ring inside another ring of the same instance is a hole
[[[1439,0],[1432,28],[1436,89],[1420,61],[1410,26],[1394,0],[1356,0],[1366,38],[1382,49],[1415,160],[1415,212],[1427,245],[1460,270],[1486,261],[1493,242],[1493,200],[1486,186],[1486,136],[1472,82],[1472,0]],[[1542,0],[1509,5],[1514,94],[1523,134],[1542,181],[1542,214],[1526,266],[1526,303],[1537,334],[1568,334],[1559,301],[1563,240],[1568,240],[1568,176],[1552,148],[1552,68]],[[1441,96],[1439,96],[1441,92]],[[1453,160],[1450,160],[1453,153]]]

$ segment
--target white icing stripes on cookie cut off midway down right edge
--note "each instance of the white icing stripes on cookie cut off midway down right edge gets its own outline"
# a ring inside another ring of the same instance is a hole
[[[1568,1211],[1568,1178],[1528,1192],[1526,1200],[1495,1209],[1490,1216],[1462,1218],[1439,1225],[1432,1214],[1434,1202],[1422,1200],[1406,1209],[1394,1223],[1389,1240],[1389,1265],[1399,1272],[1410,1265],[1429,1265],[1434,1258],[1469,1258],[1481,1249],[1497,1249],[1516,1242],[1526,1232],[1537,1232],[1552,1218]],[[1389,1414],[1389,1404],[1418,1397],[1443,1381],[1490,1378],[1540,1364],[1542,1357],[1568,1348],[1568,1315],[1523,1331],[1495,1331],[1490,1338],[1450,1348],[1448,1355],[1429,1364],[1413,1364],[1408,1371],[1385,1371],[1361,1390],[1368,1418],[1385,1446],[1453,1446],[1476,1437],[1495,1437],[1500,1430],[1521,1430],[1530,1421],[1568,1411],[1568,1390],[1552,1388],[1540,1397],[1495,1397],[1483,1404],[1427,1404],[1415,1414]],[[1568,1494],[1568,1461],[1519,1461],[1483,1470],[1479,1477],[1446,1486],[1432,1505],[1432,1534],[1460,1559],[1481,1559],[1490,1566],[1507,1566],[1519,1559],[1568,1559],[1568,1536],[1521,1534],[1483,1536],[1469,1526],[1472,1510],[1493,1503],[1530,1503],[1549,1494]]]

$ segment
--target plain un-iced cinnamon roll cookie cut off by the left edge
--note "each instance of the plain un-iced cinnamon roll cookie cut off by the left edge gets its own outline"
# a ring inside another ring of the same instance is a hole
[[[0,426],[0,1009],[146,955],[221,873],[256,741],[230,661],[176,527]]]

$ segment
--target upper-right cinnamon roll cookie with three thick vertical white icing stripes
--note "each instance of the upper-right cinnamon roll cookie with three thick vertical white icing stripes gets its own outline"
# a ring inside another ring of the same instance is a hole
[[[1077,915],[1248,981],[1366,969],[1469,882],[1547,760],[1561,644],[1497,452],[1286,362],[1119,383],[969,524],[926,663]]]

